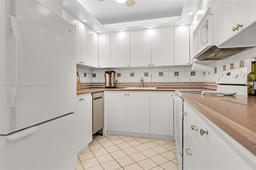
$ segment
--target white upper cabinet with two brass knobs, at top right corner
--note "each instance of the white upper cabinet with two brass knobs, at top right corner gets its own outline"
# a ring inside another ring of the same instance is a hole
[[[218,1],[218,44],[250,46],[256,44],[256,1]]]

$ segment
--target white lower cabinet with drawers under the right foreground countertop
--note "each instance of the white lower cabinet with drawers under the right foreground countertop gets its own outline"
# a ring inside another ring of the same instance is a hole
[[[256,169],[256,156],[186,101],[183,111],[184,170]]]

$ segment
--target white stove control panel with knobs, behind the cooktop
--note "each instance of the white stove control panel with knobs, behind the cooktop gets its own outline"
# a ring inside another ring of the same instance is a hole
[[[216,84],[247,85],[248,67],[221,71],[217,74]]]

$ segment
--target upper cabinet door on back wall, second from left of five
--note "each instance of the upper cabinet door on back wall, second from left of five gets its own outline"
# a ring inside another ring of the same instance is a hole
[[[111,67],[130,67],[130,32],[110,36]]]

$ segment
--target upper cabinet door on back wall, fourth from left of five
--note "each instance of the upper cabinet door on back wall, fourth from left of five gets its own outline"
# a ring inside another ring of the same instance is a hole
[[[156,28],[151,31],[151,65],[174,65],[173,27]]]

